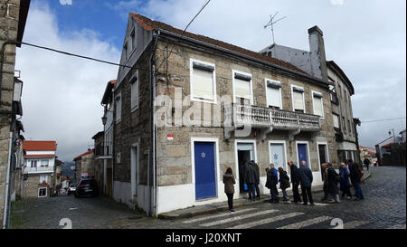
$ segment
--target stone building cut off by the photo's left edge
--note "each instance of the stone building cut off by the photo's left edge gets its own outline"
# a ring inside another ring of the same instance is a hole
[[[14,65],[16,47],[21,47],[30,0],[0,0],[0,218],[8,225],[10,177],[13,158],[15,114]],[[7,176],[7,174],[9,176]]]

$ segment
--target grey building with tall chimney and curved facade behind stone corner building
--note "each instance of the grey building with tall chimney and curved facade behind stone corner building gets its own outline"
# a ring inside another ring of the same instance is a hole
[[[314,26],[308,29],[308,35],[309,52],[276,43],[260,52],[272,58],[290,62],[323,81],[332,82],[329,90],[338,160],[345,162],[352,158],[361,165],[356,131],[356,126],[360,125],[360,121],[353,117],[351,102],[351,96],[355,94],[354,86],[336,62],[327,61],[322,31]]]

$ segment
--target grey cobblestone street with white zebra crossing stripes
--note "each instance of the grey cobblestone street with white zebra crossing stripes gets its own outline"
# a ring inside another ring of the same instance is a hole
[[[104,196],[59,196],[14,204],[13,228],[62,228],[69,218],[73,228],[332,228],[340,219],[344,228],[403,228],[406,224],[405,167],[371,167],[372,176],[362,189],[365,199],[343,199],[341,204],[256,204],[235,213],[205,214],[188,219],[158,220],[146,217]]]

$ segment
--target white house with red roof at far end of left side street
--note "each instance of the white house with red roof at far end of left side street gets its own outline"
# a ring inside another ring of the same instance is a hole
[[[52,193],[55,176],[56,141],[25,140],[23,197],[47,197]]]

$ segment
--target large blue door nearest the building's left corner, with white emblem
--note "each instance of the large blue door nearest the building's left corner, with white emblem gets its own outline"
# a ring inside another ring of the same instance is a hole
[[[195,199],[216,196],[213,142],[194,142]]]

